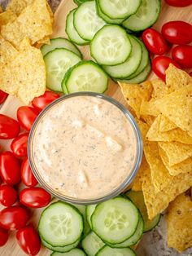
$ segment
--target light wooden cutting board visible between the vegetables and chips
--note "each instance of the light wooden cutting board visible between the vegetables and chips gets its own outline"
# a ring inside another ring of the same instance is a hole
[[[66,23],[66,16],[68,12],[71,11],[73,8],[76,7],[76,4],[72,0],[62,0],[59,8],[55,12],[55,24],[54,24],[54,33],[52,38],[57,37],[67,37],[65,33],[65,23]],[[177,8],[177,7],[168,7],[162,1],[162,10],[159,15],[158,22],[154,25],[155,29],[160,31],[162,25],[170,20],[184,20],[186,22],[192,22],[192,7],[185,7],[185,8]],[[85,56],[85,60],[89,60],[89,46],[81,46],[81,51]],[[151,77],[155,77],[155,74],[151,73]],[[119,100],[122,104],[126,106],[124,101],[123,95],[120,92],[119,86],[115,82],[110,82],[109,89],[107,90],[107,95]],[[3,104],[2,108],[0,109],[0,113],[6,114],[10,117],[16,118],[16,109],[20,107],[22,103],[15,99],[13,96],[9,96],[6,102]],[[10,150],[10,141],[9,140],[0,140],[0,146],[3,150]],[[2,206],[0,206],[0,210]],[[38,219],[41,214],[41,210],[32,210],[32,218],[31,223],[37,227]],[[4,247],[0,247],[0,255],[3,256],[24,256],[24,252],[20,249],[19,245],[17,245],[15,241],[15,232],[11,232],[9,241],[7,245]],[[41,256],[50,255],[50,250],[41,248],[41,252],[38,254]],[[174,253],[172,254],[172,256]],[[157,255],[163,256],[163,255]]]

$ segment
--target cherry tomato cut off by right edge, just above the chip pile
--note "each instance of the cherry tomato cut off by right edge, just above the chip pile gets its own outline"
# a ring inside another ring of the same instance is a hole
[[[172,49],[172,59],[183,68],[192,68],[192,46],[176,46]]]

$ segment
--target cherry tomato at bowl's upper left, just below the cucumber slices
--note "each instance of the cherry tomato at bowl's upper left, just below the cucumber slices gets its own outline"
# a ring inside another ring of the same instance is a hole
[[[46,108],[48,104],[58,98],[59,95],[56,94],[54,91],[46,91],[44,95],[34,98],[32,101],[32,105],[38,111],[41,111],[43,108]]]

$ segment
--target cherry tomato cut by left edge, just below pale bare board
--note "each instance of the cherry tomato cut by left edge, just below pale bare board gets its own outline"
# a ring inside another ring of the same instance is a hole
[[[0,139],[13,139],[19,133],[19,122],[11,117],[0,114]]]

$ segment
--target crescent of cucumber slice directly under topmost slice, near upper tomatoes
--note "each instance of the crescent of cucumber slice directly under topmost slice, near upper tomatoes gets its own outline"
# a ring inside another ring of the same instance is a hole
[[[103,69],[114,78],[126,78],[133,74],[142,60],[142,46],[133,37],[129,36],[130,42],[132,44],[132,51],[128,58],[123,64],[116,66],[103,66]]]

